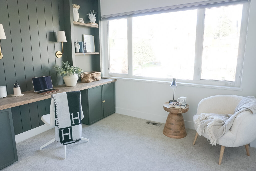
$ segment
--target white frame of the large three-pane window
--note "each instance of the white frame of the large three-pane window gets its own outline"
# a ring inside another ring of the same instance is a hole
[[[233,6],[243,4],[242,11],[242,20],[241,20],[241,30],[240,30],[240,40],[239,40],[239,49],[238,49],[238,58],[237,58],[237,68],[235,81],[225,81],[225,80],[210,80],[210,79],[201,79],[201,66],[202,66],[202,52],[203,52],[203,40],[204,40],[204,21],[205,21],[205,9],[214,8],[214,7],[223,7],[223,6]],[[194,63],[194,79],[178,79],[178,82],[181,83],[194,83],[194,84],[206,84],[214,86],[241,86],[242,79],[242,69],[245,53],[245,44],[246,44],[246,35],[247,35],[247,26],[248,26],[248,15],[249,15],[249,3],[236,3],[236,4],[225,4],[225,5],[212,5],[208,7],[193,7],[193,8],[181,8],[174,9],[168,12],[175,11],[184,11],[184,10],[197,9],[197,28],[196,28],[196,47],[195,47],[195,63]],[[155,14],[155,13],[154,13]],[[147,14],[151,15],[151,14]],[[157,81],[172,81],[172,78],[156,78],[156,77],[145,77],[145,76],[134,76],[133,75],[133,16],[118,17],[117,19],[127,18],[127,38],[128,38],[128,74],[119,74],[119,73],[110,73],[109,72],[109,27],[108,21],[114,20],[113,18],[109,20],[101,21],[102,25],[102,75],[103,77],[121,77],[121,78],[132,78],[132,79],[144,79],[144,80],[157,80]]]

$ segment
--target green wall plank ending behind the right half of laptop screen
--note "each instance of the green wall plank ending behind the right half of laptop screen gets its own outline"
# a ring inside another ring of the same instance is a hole
[[[44,0],[36,0],[40,54],[43,76],[50,75],[47,49]]]

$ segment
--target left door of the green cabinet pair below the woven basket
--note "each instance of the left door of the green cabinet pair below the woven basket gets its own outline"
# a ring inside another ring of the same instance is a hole
[[[97,122],[103,116],[103,90],[102,86],[88,89],[89,124]]]

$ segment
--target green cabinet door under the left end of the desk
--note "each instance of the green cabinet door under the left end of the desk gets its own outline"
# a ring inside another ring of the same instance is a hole
[[[12,110],[0,110],[0,169],[18,161]]]

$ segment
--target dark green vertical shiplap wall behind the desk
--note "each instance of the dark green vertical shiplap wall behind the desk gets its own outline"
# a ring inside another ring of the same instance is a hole
[[[66,58],[65,53],[55,57],[61,51],[57,32],[65,30],[63,4],[63,0],[0,0],[0,23],[7,38],[1,40],[0,86],[6,86],[8,94],[13,94],[16,82],[22,92],[33,90],[33,77],[51,75],[54,86],[63,84],[52,68]],[[49,109],[50,99],[13,107],[15,135],[44,124],[40,117]]]

